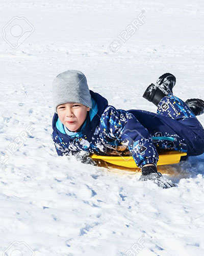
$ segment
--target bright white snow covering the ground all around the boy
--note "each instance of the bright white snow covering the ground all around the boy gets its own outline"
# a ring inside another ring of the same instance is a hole
[[[1,7],[2,28],[14,16],[35,28],[17,49],[0,42],[0,153],[9,155],[0,165],[1,253],[203,255],[204,155],[158,167],[176,183],[162,189],[139,182],[140,173],[58,157],[51,137],[52,81],[67,69],[82,71],[90,89],[119,109],[156,113],[142,95],[166,72],[177,79],[177,97],[203,99],[203,2],[11,0]],[[113,53],[111,42],[142,10],[144,24]],[[203,125],[204,115],[197,118]]]

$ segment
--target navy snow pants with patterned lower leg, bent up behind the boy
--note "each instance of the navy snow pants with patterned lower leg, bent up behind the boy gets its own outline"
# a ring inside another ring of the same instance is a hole
[[[189,106],[172,94],[158,104],[157,114],[144,110],[128,110],[151,136],[179,136],[187,144],[187,157],[204,153],[204,129]]]

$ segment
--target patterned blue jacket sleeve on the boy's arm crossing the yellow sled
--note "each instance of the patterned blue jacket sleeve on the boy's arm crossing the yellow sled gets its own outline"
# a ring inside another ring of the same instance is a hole
[[[108,106],[100,121],[108,137],[128,146],[138,167],[146,164],[157,166],[159,154],[151,136],[133,114]]]

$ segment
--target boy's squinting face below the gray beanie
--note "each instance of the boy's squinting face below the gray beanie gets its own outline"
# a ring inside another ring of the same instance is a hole
[[[57,113],[61,123],[71,132],[77,132],[86,119],[88,106],[81,103],[64,103],[58,105]]]

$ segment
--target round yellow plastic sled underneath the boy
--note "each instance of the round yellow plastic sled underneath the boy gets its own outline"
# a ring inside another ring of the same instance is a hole
[[[179,163],[182,156],[186,156],[187,153],[179,152],[179,151],[168,151],[168,152],[161,152],[159,154],[159,161],[157,165],[165,165],[165,164],[174,164]],[[93,154],[91,156],[92,159],[96,160],[103,160],[107,163],[111,163],[118,166],[123,166],[127,168],[139,168],[132,156],[98,156]]]

